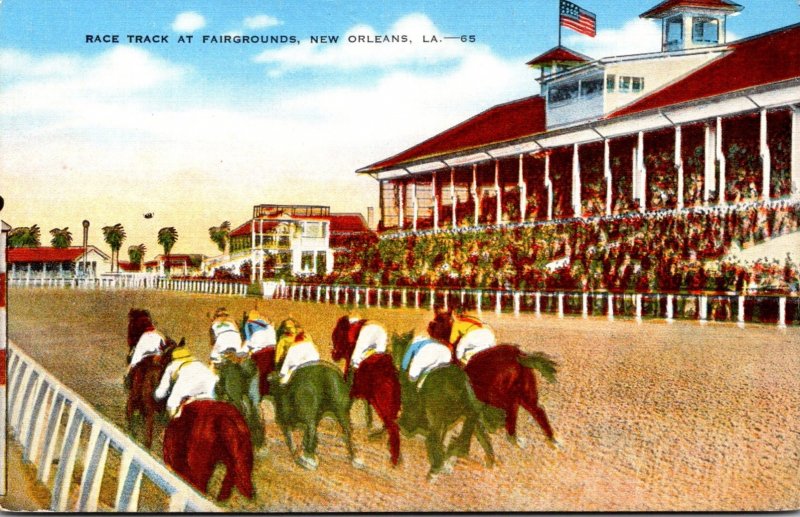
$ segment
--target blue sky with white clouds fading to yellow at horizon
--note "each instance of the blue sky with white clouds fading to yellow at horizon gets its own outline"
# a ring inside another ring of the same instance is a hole
[[[563,29],[565,46],[659,50],[639,18],[656,0],[576,3],[598,33]],[[798,0],[739,3],[729,40],[800,22]],[[406,41],[358,41],[386,35]],[[173,253],[218,254],[208,228],[260,203],[377,212],[356,169],[537,94],[525,62],[557,42],[557,0],[0,0],[0,219],[38,224],[43,245],[56,227],[79,245],[88,219],[106,252],[101,228],[120,223],[125,260],[163,252],[165,226]]]

